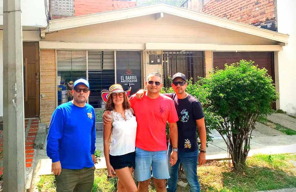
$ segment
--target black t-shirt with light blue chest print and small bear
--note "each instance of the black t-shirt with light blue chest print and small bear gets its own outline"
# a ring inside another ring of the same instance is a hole
[[[198,149],[196,120],[204,117],[200,102],[188,95],[184,99],[178,99],[176,93],[166,93],[175,103],[179,121],[178,126],[178,151],[193,152]]]

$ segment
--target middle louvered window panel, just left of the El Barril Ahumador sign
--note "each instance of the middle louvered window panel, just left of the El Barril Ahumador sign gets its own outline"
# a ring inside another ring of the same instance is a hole
[[[88,51],[89,104],[103,108],[101,91],[115,83],[114,51]]]

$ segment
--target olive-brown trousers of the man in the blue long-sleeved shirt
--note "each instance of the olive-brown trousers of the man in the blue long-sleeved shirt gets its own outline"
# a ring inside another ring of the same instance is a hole
[[[94,185],[95,167],[83,169],[62,169],[57,181],[57,192],[91,192]]]

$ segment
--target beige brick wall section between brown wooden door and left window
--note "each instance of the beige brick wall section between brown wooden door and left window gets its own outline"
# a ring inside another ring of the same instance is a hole
[[[49,124],[56,108],[56,56],[54,49],[40,50],[40,121]]]

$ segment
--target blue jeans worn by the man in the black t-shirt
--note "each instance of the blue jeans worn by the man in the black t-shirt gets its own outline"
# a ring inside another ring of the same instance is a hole
[[[168,160],[170,160],[170,153],[172,152],[172,147],[169,144],[168,147]],[[168,164],[168,170],[170,173],[170,178],[168,179],[168,192],[175,192],[177,190],[178,182],[178,170],[180,163],[182,163],[186,179],[189,184],[190,192],[200,192],[200,183],[197,178],[197,158],[198,158],[198,149],[194,152],[181,152],[178,151],[178,160],[177,163],[171,167],[170,163]]]

